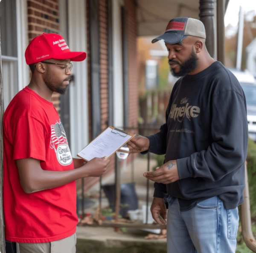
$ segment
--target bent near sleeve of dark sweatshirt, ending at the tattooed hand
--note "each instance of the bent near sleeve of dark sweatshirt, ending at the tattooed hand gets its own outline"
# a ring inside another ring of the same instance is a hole
[[[212,144],[177,160],[180,179],[218,181],[246,160],[248,125],[244,96],[228,90],[212,98]]]

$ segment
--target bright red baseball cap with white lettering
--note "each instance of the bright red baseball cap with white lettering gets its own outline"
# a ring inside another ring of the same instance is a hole
[[[86,58],[86,52],[71,52],[61,35],[43,33],[30,41],[25,58],[28,65],[47,59],[81,61]]]

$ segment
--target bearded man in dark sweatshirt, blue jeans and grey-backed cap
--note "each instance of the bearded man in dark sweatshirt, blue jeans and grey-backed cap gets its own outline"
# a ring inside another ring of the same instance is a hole
[[[144,177],[154,181],[151,213],[166,224],[168,253],[235,253],[243,203],[248,129],[244,92],[235,76],[210,57],[204,24],[172,19],[163,35],[175,83],[166,123],[155,135],[135,136],[130,152],[166,154]]]

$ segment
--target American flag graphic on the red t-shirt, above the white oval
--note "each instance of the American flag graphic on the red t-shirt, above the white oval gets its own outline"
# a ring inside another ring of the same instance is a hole
[[[54,125],[51,125],[50,148],[54,149],[56,152],[59,144],[67,144],[67,137],[61,120],[56,122]]]

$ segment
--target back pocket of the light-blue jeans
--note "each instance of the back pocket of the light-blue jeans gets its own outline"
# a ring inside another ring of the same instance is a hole
[[[227,238],[236,240],[239,225],[238,208],[227,210]]]

